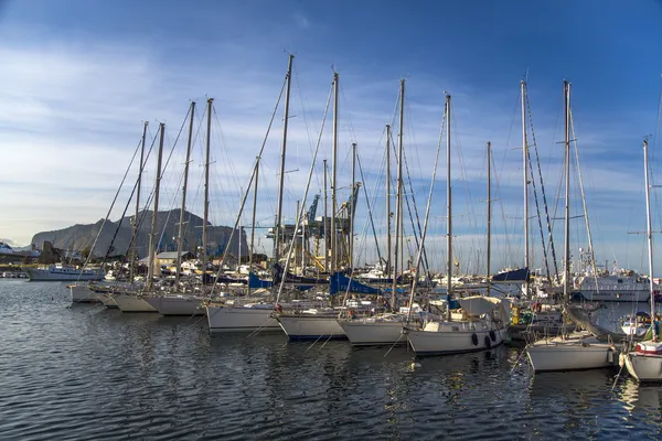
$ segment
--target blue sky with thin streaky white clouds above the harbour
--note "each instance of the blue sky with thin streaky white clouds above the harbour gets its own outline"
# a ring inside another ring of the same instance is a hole
[[[616,259],[621,267],[648,273],[645,237],[631,233],[645,229],[645,136],[653,181],[660,157],[660,23],[662,2],[654,0],[0,0],[0,238],[28,245],[39,232],[95,223],[108,213],[117,220],[125,207],[132,213],[129,197],[138,165],[131,157],[143,121],[149,122],[148,147],[159,123],[166,123],[164,158],[170,151],[172,157],[161,181],[160,206],[179,207],[191,100],[196,115],[186,206],[202,216],[209,97],[214,98],[210,219],[233,225],[292,53],[286,222],[293,220],[296,203],[303,198],[318,137],[320,153],[306,205],[313,194],[323,194],[321,160],[332,162],[331,109],[319,133],[335,69],[339,201],[349,197],[351,144],[356,142],[383,246],[384,127],[393,126],[397,142],[398,87],[405,79],[403,146],[420,223],[449,93],[453,249],[460,268],[476,272],[485,267],[487,141],[493,151],[492,268],[521,266],[520,82],[526,79],[533,121],[528,146],[533,151],[535,136],[560,260],[563,80],[568,79],[573,149],[579,153],[596,259]],[[276,212],[282,103],[275,115],[260,161],[256,214],[257,250],[267,252],[270,241],[264,228],[274,224]],[[444,142],[426,240],[436,269],[447,256],[445,149]],[[142,174],[142,202],[153,187],[154,157]],[[572,212],[579,216],[576,163],[572,182]],[[660,230],[656,193],[652,190],[653,229]],[[250,203],[242,216],[244,226],[252,220]],[[360,262],[376,258],[365,203],[362,190],[355,227]],[[533,195],[530,206],[530,252],[532,266],[540,268],[543,247]],[[544,218],[542,225],[546,235]],[[412,228],[405,229],[407,252],[415,255]],[[578,248],[588,246],[585,218],[574,217],[570,229],[577,257]],[[662,260],[656,250],[654,255],[659,272]]]

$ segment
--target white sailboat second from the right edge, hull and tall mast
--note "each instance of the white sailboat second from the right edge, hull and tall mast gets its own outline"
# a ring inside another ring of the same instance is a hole
[[[566,304],[570,298],[570,84],[564,82],[565,96],[565,262],[563,289]],[[616,347],[601,343],[587,331],[538,340],[526,347],[534,372],[574,370],[609,367]]]

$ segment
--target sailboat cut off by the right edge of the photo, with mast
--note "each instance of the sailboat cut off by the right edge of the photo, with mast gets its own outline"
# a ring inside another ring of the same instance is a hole
[[[643,141],[643,163],[645,178],[645,213],[647,213],[647,236],[649,251],[649,271],[650,279],[653,280],[653,235],[651,230],[651,197],[649,184],[648,166],[648,141]],[[655,295],[653,283],[650,283],[651,293],[651,316],[655,314]],[[634,351],[629,351],[621,355],[621,363],[624,363],[628,373],[639,381],[662,381],[662,342],[658,330],[658,322],[653,319],[651,327],[644,340],[634,346]]]

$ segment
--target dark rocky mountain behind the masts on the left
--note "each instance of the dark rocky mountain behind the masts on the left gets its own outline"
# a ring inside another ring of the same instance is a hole
[[[142,258],[149,254],[149,233],[152,223],[151,211],[140,212],[138,219],[140,227],[136,240],[138,257]],[[113,245],[109,255],[125,255],[129,248],[132,236],[132,222],[135,216],[126,216],[117,222],[106,222],[102,230],[103,219],[96,224],[74,225],[68,228],[55,232],[42,232],[32,237],[32,244],[41,249],[45,240],[53,244],[53,247],[66,250],[83,251],[90,249],[94,256],[104,256],[108,247]],[[171,209],[169,212],[159,212],[157,218],[158,232],[160,234],[160,244],[158,252],[175,251],[177,236],[179,234],[180,211]],[[195,249],[202,244],[202,218],[196,215],[184,212],[184,234],[183,251],[195,254]],[[93,244],[102,230],[94,249]],[[223,251],[229,240],[232,227],[212,226],[207,223],[207,252],[213,256],[223,256]],[[242,251],[245,254],[248,249],[246,243],[246,233],[242,230]],[[239,234],[235,233],[232,240],[229,252],[234,256],[239,255]]]

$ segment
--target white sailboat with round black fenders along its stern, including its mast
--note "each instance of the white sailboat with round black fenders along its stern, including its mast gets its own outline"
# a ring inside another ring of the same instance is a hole
[[[452,294],[452,217],[450,173],[450,95],[446,95],[446,160],[447,160],[447,223],[448,261],[447,299]],[[412,292],[412,299],[414,293]],[[429,320],[421,327],[409,323],[407,338],[416,355],[457,354],[491,349],[505,340],[510,322],[506,302],[491,297],[472,295],[457,299],[461,310],[451,312],[447,302],[445,320]],[[410,300],[412,301],[412,300]]]

